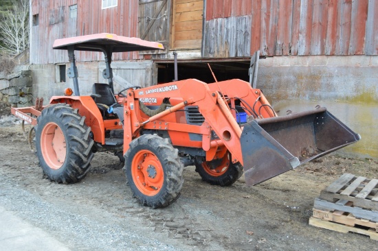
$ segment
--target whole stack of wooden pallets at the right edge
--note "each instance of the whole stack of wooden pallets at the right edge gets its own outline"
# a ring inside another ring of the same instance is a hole
[[[343,174],[315,198],[309,224],[378,241],[378,180]]]

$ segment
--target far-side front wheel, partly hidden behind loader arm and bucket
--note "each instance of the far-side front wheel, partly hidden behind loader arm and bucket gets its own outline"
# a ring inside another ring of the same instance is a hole
[[[232,163],[229,156],[225,154],[222,159],[196,164],[196,171],[205,182],[221,187],[230,186],[243,175],[243,166]]]

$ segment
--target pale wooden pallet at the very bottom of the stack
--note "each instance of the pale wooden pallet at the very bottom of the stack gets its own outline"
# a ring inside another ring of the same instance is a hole
[[[317,226],[319,228],[325,228],[337,232],[356,232],[361,235],[368,235],[370,239],[373,239],[375,241],[378,241],[378,232],[373,230],[373,228],[370,228],[368,230],[363,229],[363,228],[358,228],[356,226],[346,226],[344,224],[339,224],[335,222],[329,222],[324,219],[318,219],[315,217],[310,217],[309,224],[311,226]]]

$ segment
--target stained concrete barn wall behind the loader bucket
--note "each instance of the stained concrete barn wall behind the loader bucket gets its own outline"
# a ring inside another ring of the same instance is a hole
[[[280,56],[259,64],[257,87],[278,115],[325,106],[362,136],[338,152],[378,158],[378,56]]]

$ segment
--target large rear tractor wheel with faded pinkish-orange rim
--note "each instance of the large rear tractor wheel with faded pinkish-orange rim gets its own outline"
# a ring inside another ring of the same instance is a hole
[[[54,104],[37,118],[36,152],[43,173],[58,183],[75,183],[85,178],[91,165],[91,128],[78,109]]]

